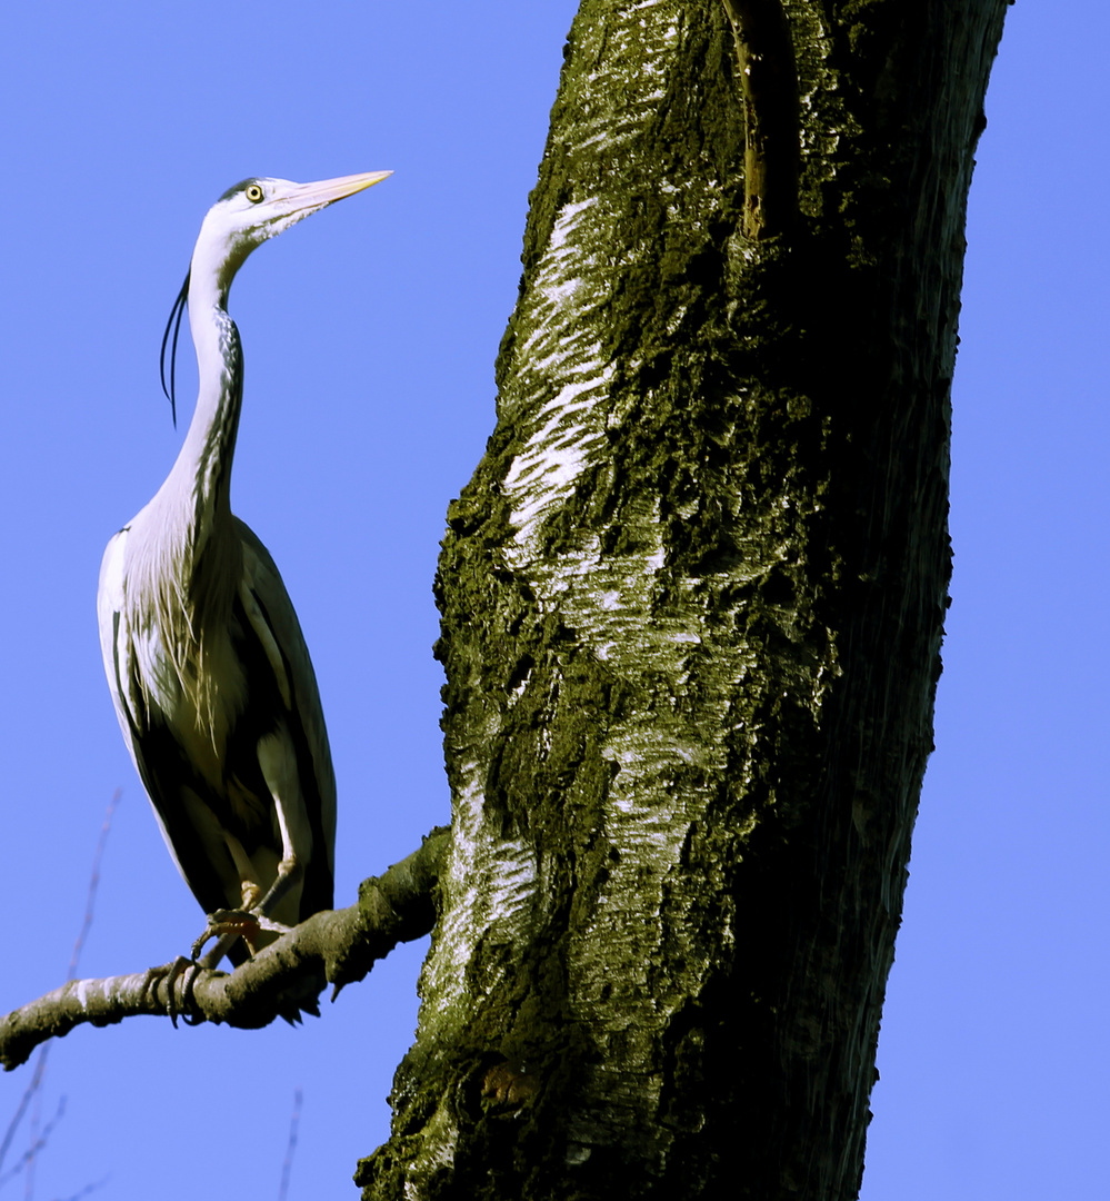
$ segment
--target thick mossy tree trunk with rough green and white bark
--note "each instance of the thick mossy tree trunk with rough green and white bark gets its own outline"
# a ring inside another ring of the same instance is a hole
[[[784,8],[797,216],[762,238],[719,0],[571,30],[449,512],[454,843],[366,1197],[858,1190],[1004,0]]]

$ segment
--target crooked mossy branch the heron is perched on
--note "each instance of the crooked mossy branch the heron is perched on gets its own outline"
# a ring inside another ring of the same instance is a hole
[[[224,1022],[242,1029],[269,1026],[275,1017],[318,1015],[325,984],[335,987],[334,999],[398,943],[431,931],[433,892],[449,843],[450,831],[438,826],[419,850],[384,876],[364,880],[356,904],[314,914],[233,973],[155,968],[71,980],[0,1018],[0,1064],[11,1071],[41,1042],[85,1022],[112,1026],[139,1014],[176,1012],[191,1023]]]

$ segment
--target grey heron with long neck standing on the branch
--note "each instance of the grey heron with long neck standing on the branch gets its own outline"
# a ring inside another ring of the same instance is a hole
[[[205,913],[230,910],[209,926],[222,936],[210,966],[223,952],[238,966],[275,928],[331,908],[336,819],[300,623],[274,560],[232,514],[242,349],[228,291],[262,243],[389,174],[246,179],[209,210],[167,325],[168,337],[187,306],[197,407],[166,482],[101,567],[101,649],[124,741],[186,884]],[[166,339],[162,354],[164,388]]]

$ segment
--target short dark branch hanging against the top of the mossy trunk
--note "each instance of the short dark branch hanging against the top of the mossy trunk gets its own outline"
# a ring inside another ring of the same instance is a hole
[[[798,211],[798,72],[780,0],[724,0],[744,90],[744,232],[782,233]]]

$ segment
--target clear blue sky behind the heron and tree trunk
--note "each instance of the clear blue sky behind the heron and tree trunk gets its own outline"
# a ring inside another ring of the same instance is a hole
[[[320,680],[337,898],[446,820],[431,581],[446,503],[493,424],[574,7],[109,0],[0,18],[0,1011],[64,978],[116,787],[82,974],[163,962],[198,932],[119,737],[94,597],[104,543],[179,446],[157,351],[200,219],[247,174],[396,172],[236,280],[234,503],[281,566]],[[954,605],[868,1201],[1104,1189],[1110,14],[1068,11],[1067,26],[1030,0],[1010,11],[972,192]],[[356,1195],[421,951],[296,1030],[149,1020],[59,1041],[43,1116],[67,1107],[36,1195],[107,1178],[102,1195],[137,1197],[156,1179],[184,1201],[199,1170],[218,1195],[276,1195],[296,1087],[290,1197]],[[0,1127],[25,1080],[0,1077]]]

